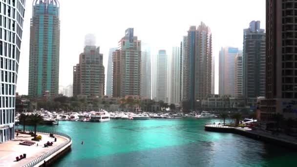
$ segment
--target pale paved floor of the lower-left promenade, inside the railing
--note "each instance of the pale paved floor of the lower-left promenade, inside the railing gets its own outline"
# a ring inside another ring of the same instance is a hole
[[[0,144],[0,167],[21,167],[26,163],[32,161],[34,158],[42,155],[48,150],[62,144],[67,139],[60,136],[57,137],[57,142],[54,142],[54,138],[50,138],[49,134],[46,133],[37,133],[37,135],[42,136],[42,141],[36,142],[32,141],[30,135],[19,134],[19,137],[16,137],[12,141],[4,142]],[[35,142],[32,146],[22,146],[19,143],[24,141]],[[47,141],[53,142],[53,146],[43,147],[44,143]],[[37,146],[38,144],[38,146]],[[16,162],[16,157],[22,155],[23,153],[27,154],[25,159]]]

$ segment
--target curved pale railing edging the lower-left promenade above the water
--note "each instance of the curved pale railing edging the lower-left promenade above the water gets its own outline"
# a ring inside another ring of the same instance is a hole
[[[30,130],[26,130],[26,131],[32,131],[32,130],[30,129]],[[61,148],[63,148],[64,146],[68,145],[71,142],[71,137],[64,134],[64,133],[60,133],[60,132],[57,132],[57,131],[47,131],[47,130],[38,131],[38,132],[39,133],[48,133],[48,134],[52,133],[54,135],[65,137],[65,138],[67,138],[67,140],[64,141],[62,144],[60,144],[60,145],[50,149],[49,151],[43,153],[39,157],[37,157],[37,158],[33,159],[32,161],[28,162],[27,164],[23,165],[23,167],[34,167],[35,165],[37,165],[40,162],[44,161],[47,157],[51,156],[52,154],[54,154],[55,152],[57,152],[58,150],[60,150]]]

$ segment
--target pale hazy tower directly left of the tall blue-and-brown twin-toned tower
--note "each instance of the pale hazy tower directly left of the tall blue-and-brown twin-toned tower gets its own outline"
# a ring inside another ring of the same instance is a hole
[[[179,104],[181,89],[181,55],[180,47],[172,47],[169,68],[169,104]]]

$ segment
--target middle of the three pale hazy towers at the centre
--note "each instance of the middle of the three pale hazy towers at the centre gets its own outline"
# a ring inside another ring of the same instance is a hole
[[[152,99],[168,103],[168,55],[166,50],[159,50],[154,57]]]

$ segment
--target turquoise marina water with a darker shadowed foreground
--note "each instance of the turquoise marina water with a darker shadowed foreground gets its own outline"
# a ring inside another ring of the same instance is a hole
[[[296,166],[297,152],[236,134],[204,131],[219,120],[60,121],[38,129],[71,136],[71,152],[54,167]],[[84,141],[84,145],[81,142]]]

